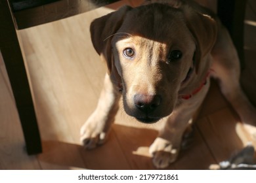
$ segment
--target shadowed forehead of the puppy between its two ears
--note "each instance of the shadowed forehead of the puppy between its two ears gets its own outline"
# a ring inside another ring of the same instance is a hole
[[[165,43],[168,43],[170,39],[179,39],[190,35],[182,11],[160,4],[146,5],[130,10],[125,16],[119,32]]]

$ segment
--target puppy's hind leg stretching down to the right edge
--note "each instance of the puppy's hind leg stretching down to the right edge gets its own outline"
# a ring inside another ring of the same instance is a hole
[[[256,110],[240,86],[240,63],[226,29],[221,29],[212,54],[213,76],[219,80],[221,92],[240,116],[252,140],[256,141]]]

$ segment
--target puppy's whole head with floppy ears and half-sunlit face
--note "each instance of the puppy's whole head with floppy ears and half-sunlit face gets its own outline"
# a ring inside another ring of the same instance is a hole
[[[215,36],[215,22],[187,5],[123,7],[91,24],[125,112],[146,123],[171,114],[188,71],[198,72]]]

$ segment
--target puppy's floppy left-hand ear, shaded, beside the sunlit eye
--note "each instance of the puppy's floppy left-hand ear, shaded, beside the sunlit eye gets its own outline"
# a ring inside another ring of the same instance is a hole
[[[91,23],[91,41],[93,42],[96,52],[100,55],[100,59],[106,62],[108,74],[112,73],[113,69],[116,69],[114,68],[112,60],[112,35],[119,29],[125,14],[129,10],[131,10],[131,7],[121,7],[119,10],[107,14],[106,16],[96,18]]]

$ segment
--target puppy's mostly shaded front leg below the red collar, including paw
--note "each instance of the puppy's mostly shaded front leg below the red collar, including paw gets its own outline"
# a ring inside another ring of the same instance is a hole
[[[183,101],[169,117],[165,118],[165,126],[160,130],[149,150],[157,168],[163,169],[177,159],[181,149],[182,135],[200,108],[208,89],[209,81],[200,93]]]

